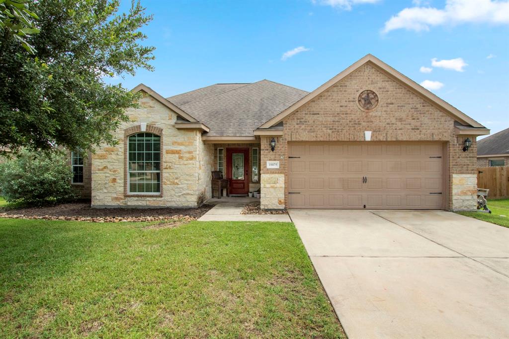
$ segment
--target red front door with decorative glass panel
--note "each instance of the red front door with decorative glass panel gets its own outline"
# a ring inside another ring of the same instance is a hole
[[[226,149],[226,173],[230,180],[230,194],[249,193],[249,149]]]

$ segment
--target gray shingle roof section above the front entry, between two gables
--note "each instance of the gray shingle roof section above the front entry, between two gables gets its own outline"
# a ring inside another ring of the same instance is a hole
[[[215,84],[168,100],[207,125],[210,128],[207,135],[249,136],[307,93],[261,80],[249,84]]]

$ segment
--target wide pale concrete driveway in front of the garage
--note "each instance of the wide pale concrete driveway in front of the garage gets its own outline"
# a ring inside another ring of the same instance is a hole
[[[444,211],[290,216],[350,339],[509,337],[509,229]]]

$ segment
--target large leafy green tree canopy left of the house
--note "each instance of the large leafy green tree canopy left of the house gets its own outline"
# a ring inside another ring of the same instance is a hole
[[[118,0],[34,1],[38,34],[20,48],[0,37],[0,148],[51,151],[60,146],[92,149],[115,144],[111,132],[137,95],[104,77],[152,70],[154,47],[139,32],[152,16],[133,2],[118,13]]]

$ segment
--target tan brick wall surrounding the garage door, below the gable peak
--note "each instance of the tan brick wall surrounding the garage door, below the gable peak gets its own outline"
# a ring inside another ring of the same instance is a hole
[[[371,112],[358,108],[356,100],[361,91],[370,89],[379,97],[378,106]],[[475,175],[475,136],[456,136],[454,119],[432,103],[408,90],[373,64],[365,64],[327,91],[306,103],[284,119],[284,135],[275,136],[276,149],[270,151],[272,136],[261,138],[262,182],[265,175],[283,174],[288,182],[288,142],[294,141],[364,141],[364,131],[372,131],[377,141],[437,141],[444,144],[444,166],[447,184],[444,187],[445,209],[454,209],[453,200],[464,201],[464,209],[475,209],[475,193],[453,181],[453,175]],[[463,152],[466,137],[472,147]],[[266,168],[267,160],[278,160],[280,168]],[[460,186],[457,186],[460,185]],[[271,189],[271,188],[269,188]],[[263,190],[263,184],[262,184]],[[278,197],[288,206],[288,189]],[[460,197],[454,197],[457,194]],[[272,195],[272,194],[271,194]],[[468,199],[466,199],[468,196]],[[263,192],[262,192],[263,198]],[[262,205],[265,204],[262,199]],[[468,205],[468,206],[467,206]],[[282,208],[281,206],[281,208]]]

